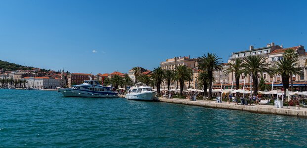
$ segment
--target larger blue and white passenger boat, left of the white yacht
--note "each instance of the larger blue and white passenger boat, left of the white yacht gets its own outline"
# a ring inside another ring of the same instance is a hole
[[[83,84],[59,88],[58,91],[68,97],[118,98],[113,87],[102,86],[95,80],[85,80]]]

